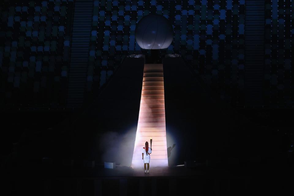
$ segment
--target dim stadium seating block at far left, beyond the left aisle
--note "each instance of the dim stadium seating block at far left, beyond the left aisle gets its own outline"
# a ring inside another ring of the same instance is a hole
[[[73,3],[1,1],[1,104],[64,104]]]

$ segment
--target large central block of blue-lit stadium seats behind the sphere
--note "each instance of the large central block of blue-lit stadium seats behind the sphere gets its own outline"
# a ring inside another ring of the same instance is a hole
[[[235,101],[240,101],[244,96],[244,3],[244,0],[94,1],[89,55],[95,69],[89,68],[88,74],[101,75],[101,86],[126,55],[148,56],[148,51],[135,42],[134,32],[143,16],[156,13],[167,17],[175,32],[170,47],[161,50],[160,55],[184,56],[208,84],[215,89],[227,89],[220,93],[236,93]]]

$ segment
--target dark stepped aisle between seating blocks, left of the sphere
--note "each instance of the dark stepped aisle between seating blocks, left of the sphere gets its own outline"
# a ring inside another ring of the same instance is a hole
[[[93,1],[76,0],[71,43],[67,107],[81,107],[84,102]]]

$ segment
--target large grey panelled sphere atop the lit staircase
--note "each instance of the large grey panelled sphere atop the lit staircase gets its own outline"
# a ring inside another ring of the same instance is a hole
[[[135,38],[143,49],[164,49],[174,37],[171,23],[162,15],[149,14],[141,18],[135,30]]]

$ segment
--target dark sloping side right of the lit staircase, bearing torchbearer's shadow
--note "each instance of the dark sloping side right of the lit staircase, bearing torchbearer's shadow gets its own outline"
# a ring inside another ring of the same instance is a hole
[[[175,144],[169,165],[230,156],[228,134],[243,132],[245,119],[205,90],[182,58],[165,58],[163,69],[167,147]]]

